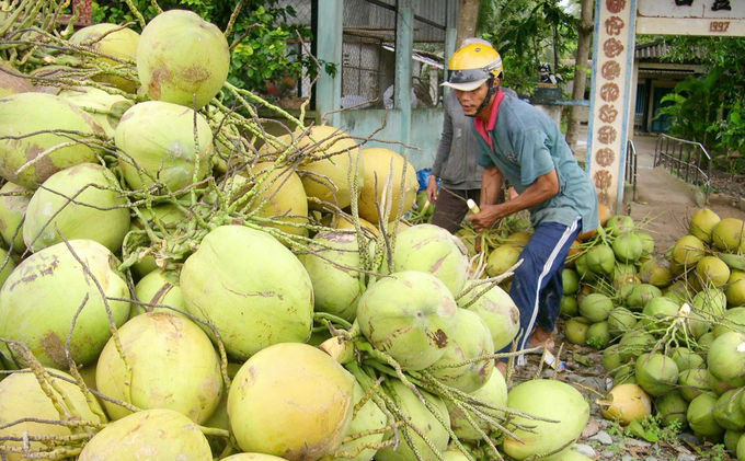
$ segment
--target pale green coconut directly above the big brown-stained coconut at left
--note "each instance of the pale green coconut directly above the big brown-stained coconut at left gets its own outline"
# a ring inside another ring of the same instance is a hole
[[[87,239],[116,253],[129,231],[128,201],[116,176],[95,163],[81,163],[53,174],[31,197],[23,241],[32,252],[62,239]],[[72,201],[74,200],[74,201]]]

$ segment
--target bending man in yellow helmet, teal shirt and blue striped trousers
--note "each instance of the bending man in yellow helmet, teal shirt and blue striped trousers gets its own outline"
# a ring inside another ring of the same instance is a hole
[[[477,132],[481,211],[468,217],[477,231],[528,209],[534,234],[520,253],[509,296],[520,311],[518,350],[553,347],[553,326],[562,295],[561,272],[572,242],[598,227],[597,197],[559,127],[538,108],[500,89],[502,59],[490,46],[458,49],[448,65],[448,81]],[[506,178],[519,194],[497,204]],[[508,348],[507,348],[508,349]],[[525,364],[520,356],[518,365]],[[503,373],[506,364],[497,364]]]

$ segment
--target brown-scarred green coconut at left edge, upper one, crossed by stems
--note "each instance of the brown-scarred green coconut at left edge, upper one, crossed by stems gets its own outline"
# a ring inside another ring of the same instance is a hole
[[[36,188],[49,176],[78,163],[95,161],[95,151],[72,142],[79,135],[53,135],[53,129],[105,136],[103,128],[80,107],[60,97],[43,93],[20,93],[0,100],[0,176],[26,188]],[[69,146],[66,146],[68,145]],[[42,152],[60,147],[38,158]],[[37,159],[37,160],[35,160]],[[27,162],[35,163],[24,166]]]

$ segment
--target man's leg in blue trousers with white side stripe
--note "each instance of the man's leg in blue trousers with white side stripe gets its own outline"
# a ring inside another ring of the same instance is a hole
[[[554,222],[547,222],[538,226],[532,237],[525,245],[519,258],[523,264],[515,269],[512,277],[512,286],[509,287],[509,297],[513,299],[517,309],[520,311],[520,336],[517,350],[523,350],[528,347],[528,338],[534,333],[538,324],[538,318],[541,310],[546,310],[545,315],[550,318],[550,321],[541,321],[542,326],[537,330],[537,336],[534,339],[545,339],[550,337],[553,332],[552,309],[541,307],[541,293],[546,287],[555,284],[555,273],[560,267],[563,267],[564,258],[572,242],[580,231],[580,220],[577,219],[572,226],[565,227]],[[559,286],[561,290],[561,285]],[[561,291],[559,291],[561,292]],[[551,296],[553,298],[553,296]],[[559,298],[561,300],[561,298]],[[558,309],[555,309],[558,313]],[[546,331],[551,327],[550,331]],[[518,359],[518,365],[525,362],[524,358]]]

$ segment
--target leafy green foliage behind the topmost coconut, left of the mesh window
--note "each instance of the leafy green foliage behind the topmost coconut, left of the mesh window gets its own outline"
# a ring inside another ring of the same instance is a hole
[[[131,0],[146,21],[158,14],[152,0]],[[204,20],[225,31],[230,21],[233,1],[213,0],[161,0],[159,7],[190,10]],[[300,78],[303,74],[314,77],[316,64],[288,43],[310,39],[310,31],[305,25],[291,24],[296,12],[291,7],[275,8],[277,0],[248,0],[238,14],[229,34],[231,46],[231,64],[228,81],[250,91],[264,91],[265,81],[278,81],[283,77]],[[267,7],[265,7],[267,5]],[[99,0],[93,2],[92,18],[94,23],[131,23],[137,32],[141,27],[126,2],[121,0]],[[333,73],[333,65],[321,62],[326,72]]]

